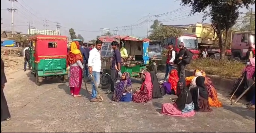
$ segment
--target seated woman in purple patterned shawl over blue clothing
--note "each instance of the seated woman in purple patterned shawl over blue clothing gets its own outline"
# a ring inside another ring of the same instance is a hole
[[[132,85],[130,79],[130,73],[124,72],[120,81],[116,84],[112,101],[115,102],[130,102],[132,99]]]

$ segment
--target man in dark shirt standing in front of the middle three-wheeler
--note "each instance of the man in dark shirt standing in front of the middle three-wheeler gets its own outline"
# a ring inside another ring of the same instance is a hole
[[[115,83],[116,80],[118,79],[118,72],[121,70],[121,54],[118,49],[118,42],[113,41],[111,43],[112,49],[114,50],[113,52],[113,57],[112,57],[112,63],[111,63],[111,80],[110,80],[110,90],[107,90],[106,93],[113,93],[115,90]],[[116,67],[117,66],[117,70]]]

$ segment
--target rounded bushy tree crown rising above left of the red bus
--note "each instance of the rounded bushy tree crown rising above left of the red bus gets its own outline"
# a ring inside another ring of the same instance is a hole
[[[151,40],[163,40],[170,37],[179,37],[183,34],[181,29],[177,29],[171,26],[159,26],[158,30],[152,30],[148,36]]]

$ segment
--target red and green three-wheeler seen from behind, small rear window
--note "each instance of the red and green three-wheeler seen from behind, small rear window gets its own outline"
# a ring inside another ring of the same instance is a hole
[[[34,35],[29,37],[31,74],[35,83],[41,85],[43,79],[59,77],[62,83],[68,79],[66,68],[67,36]]]

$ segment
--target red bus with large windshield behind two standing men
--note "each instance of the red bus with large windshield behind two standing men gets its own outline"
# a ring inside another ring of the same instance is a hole
[[[178,53],[180,51],[179,49],[179,44],[183,42],[185,47],[191,51],[194,56],[193,58],[198,58],[198,40],[197,36],[191,33],[184,33],[182,36],[179,38],[177,37],[170,37],[165,40],[163,40],[164,47],[167,48],[168,43],[173,44],[173,49]]]

